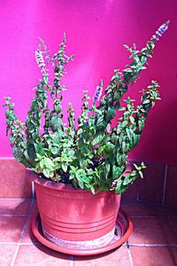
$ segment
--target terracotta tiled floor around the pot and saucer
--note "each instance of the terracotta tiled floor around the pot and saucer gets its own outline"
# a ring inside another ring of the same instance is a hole
[[[177,210],[124,200],[134,231],[118,249],[96,256],[76,257],[42,246],[31,232],[35,200],[0,200],[0,265],[176,266]]]

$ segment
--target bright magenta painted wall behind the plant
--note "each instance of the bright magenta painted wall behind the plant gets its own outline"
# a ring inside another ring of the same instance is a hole
[[[89,89],[92,96],[101,78],[106,86],[113,68],[121,69],[127,63],[122,44],[137,43],[142,48],[166,20],[171,20],[169,31],[158,43],[149,70],[128,93],[139,98],[138,90],[151,79],[161,85],[162,100],[150,112],[141,145],[130,157],[177,163],[176,0],[0,1],[0,105],[4,96],[12,96],[19,118],[26,118],[40,74],[35,64],[38,36],[50,51],[56,51],[66,33],[67,51],[76,57],[65,79],[65,106],[72,101],[79,113],[81,91]],[[11,157],[2,108],[0,117],[0,156]]]

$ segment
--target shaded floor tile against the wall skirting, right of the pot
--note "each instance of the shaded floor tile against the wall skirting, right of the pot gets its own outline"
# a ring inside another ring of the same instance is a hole
[[[122,200],[121,207],[132,216],[158,216],[165,215],[163,207],[133,200]]]

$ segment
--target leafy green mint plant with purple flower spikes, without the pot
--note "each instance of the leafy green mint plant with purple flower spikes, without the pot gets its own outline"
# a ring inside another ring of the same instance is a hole
[[[7,133],[10,131],[14,157],[41,177],[73,184],[93,193],[115,190],[119,194],[127,190],[137,176],[142,177],[142,169],[145,168],[143,162],[140,166],[135,165],[134,170],[125,172],[127,153],[138,144],[150,107],[159,99],[158,83],[152,81],[146,90],[142,90],[141,103],[136,108],[134,99],[127,98],[124,107],[120,106],[120,100],[130,82],[136,82],[140,72],[146,68],[155,43],[167,29],[168,23],[158,28],[156,35],[152,36],[142,51],[138,51],[135,44],[132,47],[124,45],[130,52],[132,62],[122,72],[114,70],[100,101],[102,81],[96,88],[91,106],[88,91],[84,91],[77,127],[71,103],[67,110],[68,123],[63,122],[61,103],[65,86],[62,78],[65,66],[73,60],[73,56],[65,54],[65,35],[58,52],[52,57],[41,39],[35,57],[41,67],[42,79],[35,88],[35,98],[25,123],[19,121],[14,113],[11,98],[5,98],[4,106],[8,107],[5,113],[6,129]],[[54,67],[52,84],[47,69],[50,63]],[[52,99],[51,107],[49,97]],[[118,111],[122,115],[112,128],[112,119]],[[41,132],[42,117],[44,123]]]

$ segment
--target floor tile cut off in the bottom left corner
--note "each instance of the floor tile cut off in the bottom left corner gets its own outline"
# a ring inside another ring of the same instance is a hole
[[[17,245],[0,245],[0,266],[10,266],[12,264],[16,249]]]

